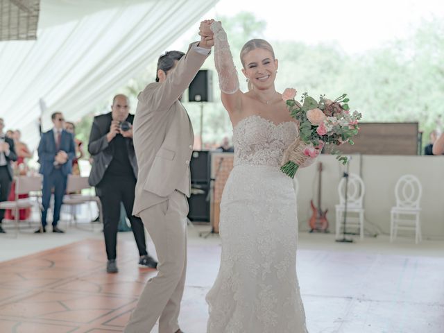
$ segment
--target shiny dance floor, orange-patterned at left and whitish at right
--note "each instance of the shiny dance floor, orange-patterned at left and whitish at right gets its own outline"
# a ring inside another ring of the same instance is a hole
[[[187,333],[205,332],[219,255],[216,244],[189,247],[180,315]],[[121,332],[155,271],[137,267],[131,241],[119,244],[120,273],[108,275],[104,265],[99,240],[0,263],[0,332]],[[444,332],[443,272],[443,257],[300,250],[309,332]]]

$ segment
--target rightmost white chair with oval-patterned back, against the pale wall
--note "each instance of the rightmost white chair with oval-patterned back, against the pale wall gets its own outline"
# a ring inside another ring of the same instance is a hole
[[[415,243],[422,241],[419,207],[422,186],[418,178],[404,175],[395,185],[396,205],[391,208],[390,241],[398,235],[398,230],[414,230]],[[408,217],[409,216],[409,217]]]

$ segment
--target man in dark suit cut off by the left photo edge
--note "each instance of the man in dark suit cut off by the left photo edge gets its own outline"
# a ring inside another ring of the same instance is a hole
[[[3,118],[0,118],[0,201],[8,200],[13,176],[11,161],[17,160],[14,141],[6,137],[3,128],[5,128],[5,122]],[[1,228],[3,216],[5,216],[5,210],[0,210],[0,233],[2,234],[5,233],[5,230]]]

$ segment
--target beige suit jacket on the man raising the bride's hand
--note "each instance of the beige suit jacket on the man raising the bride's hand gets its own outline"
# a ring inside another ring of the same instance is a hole
[[[133,214],[166,200],[176,189],[189,196],[189,161],[194,134],[187,110],[179,97],[208,55],[188,52],[163,83],[151,83],[137,99],[133,142],[139,166]]]

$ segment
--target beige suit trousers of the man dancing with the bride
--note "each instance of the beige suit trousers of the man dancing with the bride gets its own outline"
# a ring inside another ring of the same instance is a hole
[[[159,319],[159,333],[179,329],[178,316],[187,272],[187,215],[184,194],[142,210],[140,217],[157,253],[157,275],[146,283],[125,333],[150,333]]]

